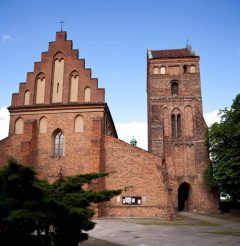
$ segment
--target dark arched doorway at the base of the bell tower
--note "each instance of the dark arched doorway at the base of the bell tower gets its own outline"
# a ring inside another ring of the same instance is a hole
[[[178,187],[178,211],[187,211],[189,203],[190,184],[184,182]]]

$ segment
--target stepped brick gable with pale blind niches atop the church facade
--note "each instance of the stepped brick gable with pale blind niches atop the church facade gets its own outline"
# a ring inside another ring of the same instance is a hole
[[[85,68],[85,59],[79,59],[78,50],[72,46],[66,32],[56,33],[56,41],[49,43],[48,51],[42,52],[41,61],[34,63],[34,71],[27,73],[26,82],[19,84],[19,92],[13,93],[10,110],[57,103],[105,102],[105,90],[98,88],[98,79],[92,78],[91,69]],[[60,83],[56,82],[58,79]],[[54,96],[55,90],[60,91],[59,95]],[[91,100],[86,100],[87,93],[91,93]]]

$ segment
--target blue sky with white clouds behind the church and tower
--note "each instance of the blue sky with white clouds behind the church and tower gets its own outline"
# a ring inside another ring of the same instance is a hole
[[[60,31],[105,88],[119,138],[147,148],[146,51],[192,45],[200,57],[204,116],[218,120],[240,93],[238,0],[1,0],[0,139],[11,94]],[[187,41],[188,40],[188,41]]]

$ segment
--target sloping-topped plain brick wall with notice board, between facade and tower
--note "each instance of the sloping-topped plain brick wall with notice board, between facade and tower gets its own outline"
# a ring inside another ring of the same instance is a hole
[[[104,215],[121,217],[172,216],[171,191],[162,159],[119,139],[105,136],[107,189],[124,189],[104,207]],[[142,205],[123,205],[122,197],[139,196]]]

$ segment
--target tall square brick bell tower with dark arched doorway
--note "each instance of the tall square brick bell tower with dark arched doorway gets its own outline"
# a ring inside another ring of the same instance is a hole
[[[147,52],[148,148],[163,160],[177,211],[218,208],[203,182],[209,158],[199,60],[190,45]]]

